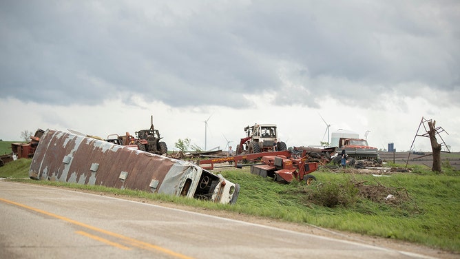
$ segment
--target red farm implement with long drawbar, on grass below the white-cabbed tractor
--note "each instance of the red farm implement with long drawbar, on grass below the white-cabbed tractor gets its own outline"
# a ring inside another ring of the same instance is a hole
[[[295,178],[297,180],[304,180],[307,185],[311,185],[313,180],[316,180],[315,176],[310,174],[317,170],[318,163],[306,162],[307,156],[305,150],[301,156],[296,157],[293,157],[291,152],[284,150],[198,160],[198,165],[204,169],[214,169],[215,163],[233,161],[235,167],[241,168],[242,164],[238,164],[238,162],[243,160],[254,161],[259,158],[259,164],[251,165],[251,174],[272,177],[273,180],[280,183],[291,183]]]

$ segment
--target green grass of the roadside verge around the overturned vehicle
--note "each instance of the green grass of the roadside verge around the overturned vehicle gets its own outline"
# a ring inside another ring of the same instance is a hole
[[[249,167],[227,169],[220,174],[240,184],[240,196],[236,205],[221,205],[143,191],[30,180],[27,179],[29,165],[28,159],[8,163],[0,167],[0,176],[235,211],[460,251],[460,172],[455,170],[434,174],[415,168],[412,173],[393,173],[389,177],[362,174],[355,169],[339,173],[320,170],[314,173],[317,181],[307,186],[300,182],[273,183],[271,178],[249,174]],[[385,199],[388,194],[393,198]]]

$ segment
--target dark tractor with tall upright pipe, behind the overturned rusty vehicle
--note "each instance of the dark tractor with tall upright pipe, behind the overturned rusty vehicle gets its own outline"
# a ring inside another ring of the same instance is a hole
[[[165,142],[160,141],[160,132],[155,130],[154,116],[151,116],[151,125],[149,130],[139,130],[136,132],[137,139],[135,141],[138,149],[152,154],[165,155],[168,148]]]

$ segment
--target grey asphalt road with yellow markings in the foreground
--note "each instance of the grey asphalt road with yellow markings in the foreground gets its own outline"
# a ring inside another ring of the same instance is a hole
[[[0,258],[426,258],[39,185],[0,180]]]

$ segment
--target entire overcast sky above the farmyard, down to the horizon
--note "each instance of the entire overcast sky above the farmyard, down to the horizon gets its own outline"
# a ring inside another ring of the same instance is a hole
[[[3,141],[153,115],[169,150],[236,147],[254,123],[320,145],[328,123],[429,151],[426,118],[460,152],[458,0],[0,1],[0,35]]]

